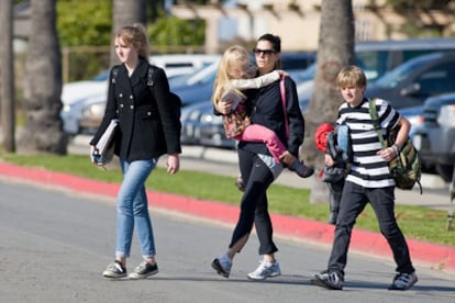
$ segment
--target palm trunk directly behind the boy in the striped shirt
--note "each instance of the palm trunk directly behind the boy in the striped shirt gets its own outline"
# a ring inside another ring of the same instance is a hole
[[[313,144],[314,131],[323,122],[335,123],[337,108],[342,102],[336,91],[335,77],[342,67],[354,63],[354,30],[351,0],[322,1],[318,69],[314,78],[314,92],[306,114],[303,144],[304,156],[315,166],[317,170],[323,168],[323,155],[315,149]],[[318,199],[319,192],[317,190],[313,192],[312,197]]]

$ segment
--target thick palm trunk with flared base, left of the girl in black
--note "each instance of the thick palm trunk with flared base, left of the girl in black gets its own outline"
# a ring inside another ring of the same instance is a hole
[[[62,55],[56,31],[56,0],[31,1],[31,33],[25,64],[25,125],[18,149],[24,154],[66,154],[62,130]]]

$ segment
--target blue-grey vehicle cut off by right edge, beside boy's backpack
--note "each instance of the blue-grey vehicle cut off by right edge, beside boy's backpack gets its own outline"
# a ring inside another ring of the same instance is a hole
[[[425,101],[423,123],[415,128],[413,143],[420,150],[423,170],[450,182],[455,164],[455,92]]]

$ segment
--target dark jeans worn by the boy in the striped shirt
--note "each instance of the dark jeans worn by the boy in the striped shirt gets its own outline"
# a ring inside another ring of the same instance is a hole
[[[376,213],[380,232],[393,252],[397,272],[413,272],[408,244],[395,218],[395,188],[363,188],[348,181],[343,188],[329,270],[344,276],[352,228],[368,201]]]

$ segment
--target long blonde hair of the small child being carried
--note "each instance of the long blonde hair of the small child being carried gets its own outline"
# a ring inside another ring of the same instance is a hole
[[[242,98],[246,98],[243,92],[232,86],[232,77],[229,75],[229,71],[235,68],[238,70],[244,70],[246,72],[248,66],[249,56],[245,47],[241,45],[234,45],[223,53],[213,83],[212,102],[214,104],[221,100],[221,97],[225,91],[234,91]]]

